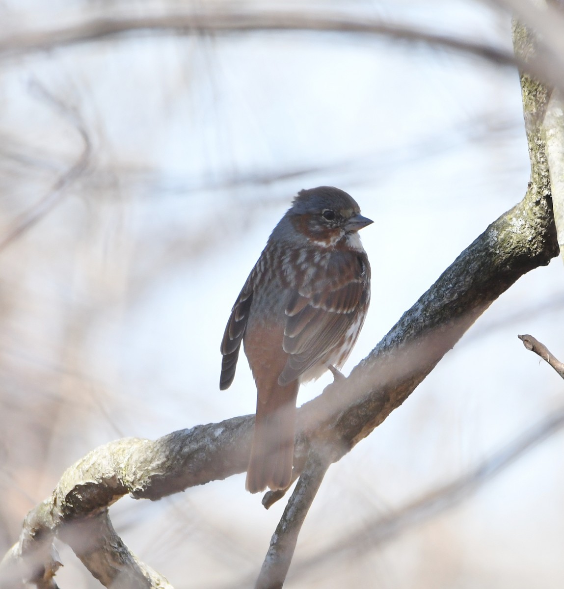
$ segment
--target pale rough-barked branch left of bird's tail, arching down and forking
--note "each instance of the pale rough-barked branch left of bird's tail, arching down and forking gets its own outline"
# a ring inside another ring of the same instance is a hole
[[[253,417],[243,416],[155,441],[120,439],[89,452],[25,518],[18,543],[0,563],[0,587],[23,589],[28,582],[54,589],[55,537],[67,542],[105,587],[170,587],[123,544],[108,507],[127,494],[158,499],[244,471],[252,425]]]

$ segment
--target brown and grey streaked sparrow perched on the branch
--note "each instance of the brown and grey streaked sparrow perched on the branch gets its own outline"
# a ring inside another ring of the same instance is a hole
[[[221,342],[220,389],[235,377],[241,343],[257,386],[245,487],[292,481],[300,384],[333,375],[350,355],[370,303],[370,264],[358,231],[373,223],[343,190],[301,190],[239,293]]]

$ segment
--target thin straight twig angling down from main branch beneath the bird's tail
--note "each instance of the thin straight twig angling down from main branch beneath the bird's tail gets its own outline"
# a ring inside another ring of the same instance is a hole
[[[280,589],[283,586],[301,526],[330,462],[323,449],[311,449],[304,471],[272,536],[255,589]]]

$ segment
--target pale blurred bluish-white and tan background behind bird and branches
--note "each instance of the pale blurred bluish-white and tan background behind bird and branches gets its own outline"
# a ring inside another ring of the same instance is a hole
[[[298,190],[340,187],[375,221],[361,234],[371,308],[346,373],[525,194],[517,72],[464,52],[378,35],[197,26],[26,41],[100,17],[223,6],[0,1],[2,553],[26,512],[95,446],[254,412],[244,358],[219,391],[219,346]],[[374,19],[512,51],[510,16],[477,1],[230,9]],[[407,505],[564,410],[562,380],[517,339],[531,333],[564,359],[562,270],[555,259],[523,277],[331,466],[285,587],[562,587],[558,429],[456,505],[394,526]],[[304,386],[298,403],[328,382]],[[238,475],[155,503],[124,498],[111,514],[174,587],[220,589],[253,585],[283,504],[265,511]],[[100,586],[59,548],[61,587]]]

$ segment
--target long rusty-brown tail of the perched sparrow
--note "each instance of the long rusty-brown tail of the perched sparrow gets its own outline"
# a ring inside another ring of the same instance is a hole
[[[300,383],[274,384],[270,391],[259,391],[254,422],[253,446],[247,468],[247,491],[266,487],[285,489],[292,478],[296,398]],[[266,398],[266,400],[265,400]]]

